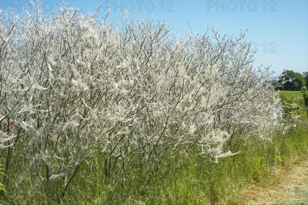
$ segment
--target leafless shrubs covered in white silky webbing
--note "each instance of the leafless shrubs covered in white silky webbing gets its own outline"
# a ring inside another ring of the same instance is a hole
[[[165,23],[125,20],[119,29],[98,12],[56,12],[2,13],[0,22],[0,120],[15,125],[1,131],[1,146],[18,145],[18,183],[31,173],[47,198],[64,196],[95,153],[117,181],[140,156],[155,168],[166,152],[194,148],[217,161],[234,154],[224,151],[232,134],[266,138],[283,127],[271,73],[253,68],[243,33],[178,38]]]

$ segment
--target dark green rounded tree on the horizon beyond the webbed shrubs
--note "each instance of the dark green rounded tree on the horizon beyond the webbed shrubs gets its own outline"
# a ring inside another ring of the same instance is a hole
[[[290,81],[287,81],[282,87],[279,87],[280,90],[300,91],[305,86],[304,76],[293,70],[286,70],[286,74],[282,78]],[[278,83],[282,83],[282,79],[279,79]]]

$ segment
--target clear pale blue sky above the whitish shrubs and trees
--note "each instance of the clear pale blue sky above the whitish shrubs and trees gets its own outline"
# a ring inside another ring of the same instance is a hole
[[[0,1],[2,9],[13,6],[26,7],[27,1]],[[94,10],[103,4],[104,10],[117,25],[124,10],[130,17],[165,20],[172,32],[179,36],[192,31],[205,33],[207,26],[220,34],[237,37],[245,31],[247,39],[257,48],[254,66],[271,66],[280,74],[283,69],[296,72],[308,71],[308,1],[66,1],[71,6],[78,5],[82,12]],[[58,1],[42,1],[42,10],[51,12]]]

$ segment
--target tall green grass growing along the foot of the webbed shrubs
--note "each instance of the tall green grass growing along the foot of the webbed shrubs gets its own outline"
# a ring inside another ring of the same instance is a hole
[[[286,94],[292,95],[291,92]],[[300,103],[299,95],[298,98]],[[303,105],[300,107],[300,113],[305,114]],[[271,176],[290,159],[307,155],[307,133],[308,119],[302,116],[295,128],[286,134],[277,133],[273,141],[233,136],[226,151],[240,152],[218,163],[194,152],[183,152],[166,155],[155,172],[143,163],[133,164],[124,186],[117,179],[106,180],[104,158],[97,155],[80,169],[59,203],[243,204],[243,201],[227,199]],[[13,185],[7,187],[7,191],[3,199],[7,204],[42,204],[44,201],[44,197],[35,192],[32,196],[14,195]]]

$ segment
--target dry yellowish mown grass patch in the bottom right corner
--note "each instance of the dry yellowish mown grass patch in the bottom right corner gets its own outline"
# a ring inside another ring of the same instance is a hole
[[[293,159],[275,175],[232,196],[224,204],[308,204],[308,156]]]

